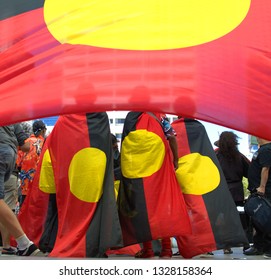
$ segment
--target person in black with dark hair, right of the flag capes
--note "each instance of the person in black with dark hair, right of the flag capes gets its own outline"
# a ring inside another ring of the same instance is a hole
[[[236,206],[244,206],[243,177],[247,178],[250,160],[238,150],[238,136],[232,131],[223,131],[215,142],[215,150],[225,175],[229,191]],[[244,249],[246,249],[245,247]],[[225,248],[224,254],[231,254],[231,248]]]

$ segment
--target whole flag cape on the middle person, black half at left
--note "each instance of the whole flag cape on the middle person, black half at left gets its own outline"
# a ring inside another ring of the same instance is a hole
[[[124,245],[191,233],[171,150],[161,124],[128,113],[121,143],[118,206]]]

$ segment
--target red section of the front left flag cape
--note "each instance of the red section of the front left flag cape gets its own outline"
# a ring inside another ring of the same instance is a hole
[[[60,147],[62,139],[65,139],[65,146]],[[90,147],[86,116],[72,115],[59,118],[57,126],[46,141],[54,168],[58,206],[58,234],[50,256],[84,257],[86,231],[97,203],[79,200],[70,192],[67,172],[75,153]]]

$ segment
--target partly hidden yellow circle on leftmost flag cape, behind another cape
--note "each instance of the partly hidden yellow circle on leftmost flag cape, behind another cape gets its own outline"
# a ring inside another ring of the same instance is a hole
[[[44,152],[41,162],[39,189],[45,193],[56,193],[54,170],[48,149]]]

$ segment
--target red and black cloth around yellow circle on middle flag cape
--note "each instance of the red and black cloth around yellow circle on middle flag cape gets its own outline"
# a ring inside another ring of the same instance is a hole
[[[171,158],[169,143],[158,120],[151,114],[130,112],[125,120],[123,145],[129,133],[135,130],[147,130],[156,134],[164,143],[165,156],[160,169],[143,178],[126,178],[123,176],[119,191],[119,214],[125,245],[141,243],[159,238],[172,237],[180,234],[190,234],[191,226],[185,207],[184,198],[178,185]],[[135,132],[136,133],[136,132]],[[143,141],[141,139],[141,141]],[[138,141],[129,152],[128,147],[121,150],[121,156],[133,162],[133,156],[144,161],[144,145]],[[136,152],[135,152],[136,151]],[[161,151],[153,150],[155,154]],[[127,160],[127,159],[126,159]],[[123,163],[122,163],[123,164]],[[137,172],[137,170],[135,170]]]

